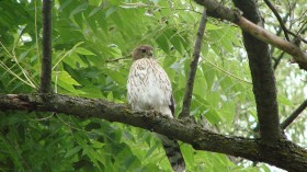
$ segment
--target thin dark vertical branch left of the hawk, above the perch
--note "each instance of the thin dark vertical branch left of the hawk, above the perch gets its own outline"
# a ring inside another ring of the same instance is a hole
[[[41,93],[52,92],[52,0],[43,0],[43,60]]]

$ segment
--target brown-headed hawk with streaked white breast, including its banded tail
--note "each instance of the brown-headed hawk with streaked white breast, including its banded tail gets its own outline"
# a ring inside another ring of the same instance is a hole
[[[127,81],[128,103],[134,111],[154,110],[173,117],[174,100],[170,79],[152,56],[154,48],[148,45],[133,51],[133,65]],[[175,172],[185,171],[185,163],[175,140],[157,134],[167,157]]]

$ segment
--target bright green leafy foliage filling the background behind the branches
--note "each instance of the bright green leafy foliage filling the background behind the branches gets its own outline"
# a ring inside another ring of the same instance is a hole
[[[297,31],[304,1],[276,3]],[[37,90],[41,73],[41,1],[0,0],[0,93]],[[225,2],[231,5],[229,2]],[[302,4],[302,5],[299,5]],[[260,3],[266,28],[280,27]],[[53,83],[57,93],[126,102],[130,53],[155,47],[168,72],[181,111],[201,7],[191,1],[55,0],[53,8]],[[306,12],[306,11],[305,11]],[[280,50],[273,49],[273,57]],[[306,99],[306,73],[285,56],[275,70],[284,119]],[[11,114],[14,115],[11,115]],[[241,32],[208,19],[191,115],[204,127],[226,135],[254,137],[255,105]],[[206,121],[205,121],[206,119]],[[286,136],[306,147],[306,113]],[[101,119],[50,113],[0,113],[1,171],[171,171],[152,134]],[[268,165],[181,146],[187,171],[270,171]],[[272,170],[272,169],[271,169]]]

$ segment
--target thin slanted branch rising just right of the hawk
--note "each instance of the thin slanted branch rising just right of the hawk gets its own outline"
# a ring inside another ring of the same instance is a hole
[[[207,20],[207,13],[206,13],[206,9],[204,8],[204,12],[202,14],[200,27],[197,31],[196,42],[194,45],[193,59],[191,60],[191,64],[190,64],[189,79],[186,81],[182,112],[179,115],[180,117],[190,116],[190,105],[191,105],[191,100],[192,100],[193,85],[194,85],[195,73],[197,70],[197,64],[198,64],[200,54],[201,54],[203,36],[204,36],[205,27],[206,27],[206,20]]]

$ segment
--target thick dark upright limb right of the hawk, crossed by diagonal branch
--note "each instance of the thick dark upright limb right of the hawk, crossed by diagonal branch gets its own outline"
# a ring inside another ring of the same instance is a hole
[[[245,18],[263,25],[257,4],[253,0],[232,0],[235,5],[243,11]],[[257,104],[257,115],[260,135],[265,142],[276,142],[280,139],[280,118],[276,102],[276,84],[269,45],[243,31],[245,47],[248,53],[253,93]]]

